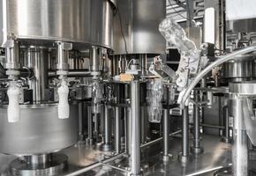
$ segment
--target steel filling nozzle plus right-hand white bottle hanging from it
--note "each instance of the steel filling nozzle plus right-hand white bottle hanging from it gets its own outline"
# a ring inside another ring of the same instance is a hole
[[[57,64],[56,75],[59,76],[60,84],[57,89],[58,93],[58,118],[67,119],[70,116],[70,106],[68,102],[68,69],[69,69],[69,51],[72,50],[72,43],[57,41]]]

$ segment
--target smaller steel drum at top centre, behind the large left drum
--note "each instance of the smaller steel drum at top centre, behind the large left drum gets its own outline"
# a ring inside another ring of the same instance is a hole
[[[158,26],[166,15],[165,0],[117,0],[129,54],[161,54],[166,42]],[[126,55],[121,23],[114,17],[115,55]]]

